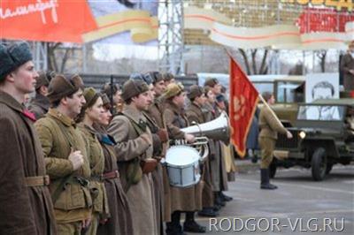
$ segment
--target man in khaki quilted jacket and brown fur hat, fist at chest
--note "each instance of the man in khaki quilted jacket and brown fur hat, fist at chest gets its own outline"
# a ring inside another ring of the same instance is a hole
[[[89,228],[92,198],[89,155],[74,118],[86,103],[81,77],[57,75],[50,81],[51,107],[35,123],[42,143],[58,234],[80,234]]]

